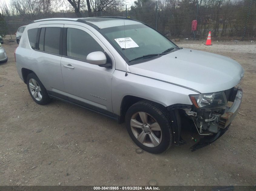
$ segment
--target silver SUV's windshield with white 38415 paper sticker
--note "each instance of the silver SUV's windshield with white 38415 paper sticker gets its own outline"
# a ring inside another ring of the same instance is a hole
[[[123,57],[125,57],[126,46],[127,62],[131,61],[129,64],[135,64],[132,63],[132,60],[136,58],[161,54],[171,47],[177,47],[162,34],[145,24],[125,25],[125,31],[124,26],[104,28],[101,29],[101,33],[105,35]],[[125,44],[124,37],[126,39]],[[155,57],[149,57],[149,59],[153,58]]]

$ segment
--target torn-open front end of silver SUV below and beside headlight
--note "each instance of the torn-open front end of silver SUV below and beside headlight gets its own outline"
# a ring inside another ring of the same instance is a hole
[[[202,109],[193,106],[191,109],[184,109],[186,116],[193,121],[198,134],[206,135],[191,147],[192,151],[209,145],[220,138],[237,115],[243,96],[241,87],[224,91],[224,95],[226,101],[230,103],[226,107]],[[220,102],[221,100],[217,99],[217,101]],[[233,103],[231,104],[231,102]]]

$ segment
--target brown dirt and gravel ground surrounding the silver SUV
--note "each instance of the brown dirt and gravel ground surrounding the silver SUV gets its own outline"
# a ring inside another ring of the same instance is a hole
[[[194,144],[191,133],[182,132],[185,145],[162,154],[137,154],[124,124],[58,100],[36,104],[16,71],[17,44],[5,41],[8,62],[0,64],[0,185],[142,186],[151,179],[159,186],[255,185],[256,43],[212,43],[177,44],[222,54],[243,66],[241,121],[235,117],[220,139],[195,152],[189,150]]]

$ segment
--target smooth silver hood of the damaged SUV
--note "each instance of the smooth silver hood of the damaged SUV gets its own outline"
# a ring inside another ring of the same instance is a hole
[[[233,59],[185,48],[148,62],[130,65],[129,70],[134,74],[178,84],[200,93],[233,88],[244,74],[241,65]]]

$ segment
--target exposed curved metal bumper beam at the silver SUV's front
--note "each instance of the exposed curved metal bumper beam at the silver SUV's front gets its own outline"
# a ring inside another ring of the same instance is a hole
[[[234,103],[222,116],[220,116],[220,122],[218,126],[222,129],[225,129],[232,122],[240,108],[243,97],[243,90],[241,87],[238,87],[236,92],[237,93],[234,99]]]

